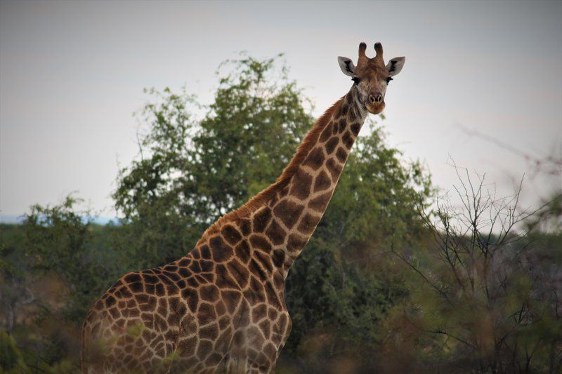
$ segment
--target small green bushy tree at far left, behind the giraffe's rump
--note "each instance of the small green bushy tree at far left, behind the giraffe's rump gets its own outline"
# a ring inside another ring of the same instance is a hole
[[[84,316],[110,276],[120,270],[115,255],[103,246],[93,248],[96,227],[89,212],[77,210],[79,202],[67,196],[57,206],[32,206],[22,225],[27,265],[40,276],[55,275],[68,287],[64,312],[74,321]]]

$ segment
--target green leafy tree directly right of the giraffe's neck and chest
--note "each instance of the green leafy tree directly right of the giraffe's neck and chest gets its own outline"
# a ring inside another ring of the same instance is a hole
[[[353,147],[326,214],[287,277],[293,330],[282,355],[299,356],[301,370],[322,372],[342,359],[355,370],[372,368],[379,321],[407,297],[387,243],[419,240],[415,196],[425,206],[433,194],[421,164],[400,161],[375,121],[367,120]]]

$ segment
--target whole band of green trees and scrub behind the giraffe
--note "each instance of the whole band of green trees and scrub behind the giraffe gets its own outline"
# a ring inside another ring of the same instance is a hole
[[[0,227],[0,367],[79,371],[81,321],[115,279],[190,251],[277,178],[314,121],[280,58],[218,69],[214,101],[148,90],[139,154],[116,176],[122,219],[79,199]],[[429,171],[362,129],[327,213],[287,278],[280,373],[559,373],[562,199],[535,212],[459,170],[460,208]],[[454,189],[453,189],[454,190]],[[455,190],[454,190],[455,191]]]

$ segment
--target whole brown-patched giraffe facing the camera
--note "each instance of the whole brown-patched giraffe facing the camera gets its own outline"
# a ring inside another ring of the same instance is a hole
[[[291,330],[285,278],[332,198],[367,113],[385,107],[405,58],[384,64],[380,43],[353,86],[320,116],[272,185],[219,218],[195,248],[131,272],[91,307],[82,328],[84,373],[272,373]]]

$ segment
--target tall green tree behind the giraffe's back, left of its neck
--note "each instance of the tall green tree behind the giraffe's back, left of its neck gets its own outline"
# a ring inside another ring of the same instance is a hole
[[[130,224],[124,247],[144,267],[190,251],[214,220],[273,182],[311,126],[301,92],[274,59],[222,66],[214,102],[197,120],[195,98],[169,89],[141,116],[140,155],[123,168],[115,204]],[[138,264],[135,264],[138,265]]]

